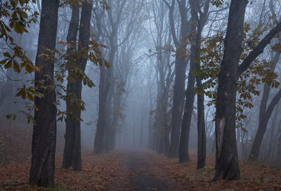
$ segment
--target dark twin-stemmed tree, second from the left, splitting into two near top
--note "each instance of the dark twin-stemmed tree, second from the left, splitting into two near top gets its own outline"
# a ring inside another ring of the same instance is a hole
[[[68,60],[67,82],[67,119],[65,132],[65,150],[63,152],[63,168],[73,167],[74,171],[81,171],[81,111],[84,104],[81,101],[82,80],[89,54],[91,1],[83,1],[79,26],[79,41],[76,49],[77,27],[79,20],[78,5],[73,6],[67,42],[70,51],[74,51]],[[73,27],[73,28],[72,28]],[[74,49],[73,49],[74,48]],[[76,52],[76,53],[75,53]],[[73,56],[77,55],[77,58]],[[71,58],[72,57],[72,58]]]

